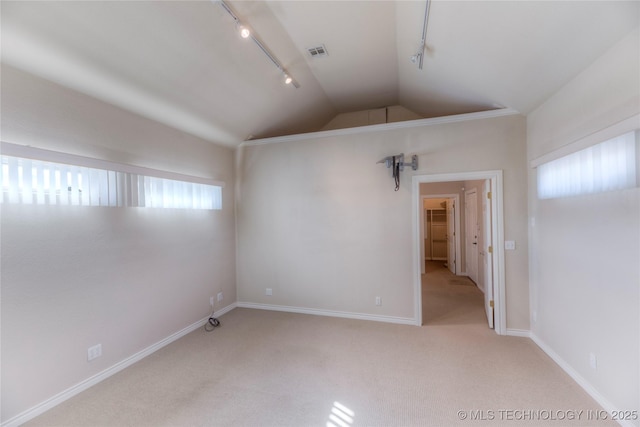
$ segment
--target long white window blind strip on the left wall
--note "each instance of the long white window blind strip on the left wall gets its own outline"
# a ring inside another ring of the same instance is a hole
[[[220,185],[10,155],[0,162],[1,203],[222,209]]]

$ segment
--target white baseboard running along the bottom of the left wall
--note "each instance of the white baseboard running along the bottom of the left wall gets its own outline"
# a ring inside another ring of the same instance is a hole
[[[233,310],[234,308],[236,308],[236,304],[230,304],[228,306],[226,306],[225,308],[216,311],[214,313],[214,315],[216,317],[218,316],[222,316],[225,313],[228,313],[229,311]],[[138,362],[139,360],[149,356],[150,354],[160,350],[162,347],[165,347],[169,344],[171,344],[172,342],[176,341],[179,338],[182,338],[183,336],[187,335],[190,332],[195,331],[198,328],[201,328],[206,322],[207,319],[209,319],[209,316],[205,317],[204,319],[200,319],[198,321],[196,321],[195,323],[192,323],[191,325],[187,326],[186,328],[169,335],[168,337],[166,337],[163,340],[158,341],[155,344],[152,344],[151,346],[145,348],[144,350],[139,351],[138,353],[127,357],[126,359],[116,363],[115,365],[111,366],[110,368],[105,369],[102,372],[97,373],[96,375],[87,378],[84,381],[79,382],[78,384],[56,394],[53,397],[50,397],[49,399],[45,400],[44,402],[39,403],[38,405],[27,409],[26,411],[16,415],[13,418],[8,419],[7,421],[3,422],[2,424],[0,424],[1,427],[17,427],[21,424],[26,423],[29,420],[32,420],[33,418],[37,417],[38,415],[48,411],[49,409],[53,408],[54,406],[57,406],[59,404],[61,404],[62,402],[64,402],[65,400],[68,400],[70,398],[72,398],[73,396],[85,391],[86,389],[88,389],[89,387],[98,384],[101,381],[104,381],[105,379],[109,378],[110,376],[122,371],[123,369],[133,365],[134,363]]]

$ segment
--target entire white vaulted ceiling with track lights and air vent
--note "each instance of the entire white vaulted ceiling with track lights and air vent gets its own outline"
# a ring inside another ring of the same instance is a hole
[[[3,0],[2,62],[234,146],[398,104],[526,114],[640,22],[637,1],[432,1],[418,70],[426,1],[227,4],[300,88],[207,0]]]

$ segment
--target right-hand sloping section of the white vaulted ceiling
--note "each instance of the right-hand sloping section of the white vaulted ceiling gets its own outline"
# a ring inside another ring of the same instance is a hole
[[[397,2],[399,102],[424,115],[529,113],[638,26],[638,2],[432,1],[424,69],[408,58],[425,2]]]

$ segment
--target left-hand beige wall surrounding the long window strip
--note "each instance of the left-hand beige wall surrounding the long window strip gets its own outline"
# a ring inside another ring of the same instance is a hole
[[[2,139],[226,182],[222,211],[1,205],[3,422],[235,301],[232,150],[10,67]]]

